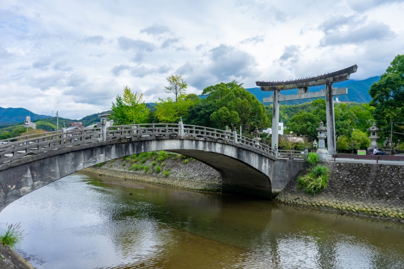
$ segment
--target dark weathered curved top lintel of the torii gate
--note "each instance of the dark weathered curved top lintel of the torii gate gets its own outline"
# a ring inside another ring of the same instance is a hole
[[[311,87],[324,85],[326,81],[336,83],[340,81],[345,81],[349,79],[349,75],[357,72],[358,66],[354,65],[336,72],[324,74],[321,76],[306,78],[306,79],[296,79],[284,82],[266,82],[266,81],[256,81],[257,86],[261,87],[262,91],[273,91],[273,90],[290,90],[301,87]]]

